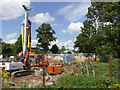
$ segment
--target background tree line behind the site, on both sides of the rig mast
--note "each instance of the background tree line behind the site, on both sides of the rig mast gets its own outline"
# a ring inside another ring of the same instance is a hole
[[[52,48],[49,48],[50,43],[56,40],[56,37],[53,36],[55,31],[52,29],[50,24],[43,23],[36,29],[38,43],[36,47],[32,47],[32,52],[36,54],[42,54],[45,50],[46,53],[59,54],[62,53],[66,48],[64,46],[59,49],[57,44],[52,45]],[[17,41],[14,44],[6,43],[0,38],[0,53],[3,55],[17,55],[22,51],[22,35],[20,35]]]

